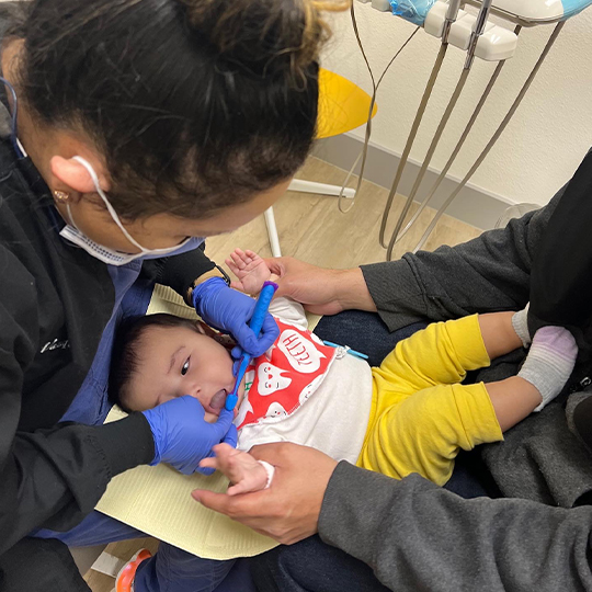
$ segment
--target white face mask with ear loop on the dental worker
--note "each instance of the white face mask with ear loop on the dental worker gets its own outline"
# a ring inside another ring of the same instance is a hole
[[[102,244],[99,244],[98,242],[94,242],[93,240],[91,240],[89,237],[87,237],[87,235],[81,232],[76,226],[75,219],[72,217],[72,212],[70,209],[70,204],[66,204],[66,207],[68,208],[68,216],[70,218],[71,224],[67,224],[59,232],[59,236],[66,239],[68,242],[71,242],[72,244],[76,244],[77,247],[84,249],[84,251],[87,251],[90,255],[94,257],[95,259],[99,259],[99,261],[102,261],[103,263],[106,263],[107,265],[116,265],[116,266],[125,265],[126,263],[135,261],[136,259],[157,259],[157,258],[164,257],[171,253],[181,254],[182,252],[186,252],[186,251],[191,251],[192,249],[195,249],[203,242],[202,238],[189,237],[180,244],[175,244],[174,247],[168,247],[167,249],[145,249],[125,229],[124,225],[119,220],[119,216],[117,216],[117,213],[115,212],[113,206],[109,203],[106,195],[104,194],[103,190],[99,185],[99,178],[96,177],[96,173],[94,172],[94,169],[92,168],[92,166],[79,156],[73,157],[73,158],[75,160],[80,162],[80,164],[82,164],[84,169],[87,169],[87,171],[91,175],[96,193],[100,195],[101,200],[103,200],[109,213],[111,214],[111,217],[113,218],[113,221],[119,227],[124,237],[132,244],[134,244],[134,247],[137,247],[140,250],[140,252],[139,253],[125,253],[122,251],[110,249],[109,247],[103,247]]]

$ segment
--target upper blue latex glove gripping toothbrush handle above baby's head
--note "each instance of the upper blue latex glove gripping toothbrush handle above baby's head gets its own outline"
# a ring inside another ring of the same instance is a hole
[[[250,355],[263,355],[280,335],[275,319],[267,312],[259,339],[247,325],[255,301],[226,285],[221,277],[210,277],[193,291],[193,306],[208,325],[228,331]]]

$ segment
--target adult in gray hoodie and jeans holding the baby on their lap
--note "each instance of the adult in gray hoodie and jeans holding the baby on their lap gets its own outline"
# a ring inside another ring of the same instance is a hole
[[[485,480],[473,474],[468,494],[498,499],[464,499],[417,475],[397,481],[292,444],[255,452],[277,467],[270,490],[242,498],[196,492],[282,543],[304,539],[253,563],[259,590],[592,590],[589,204],[591,153],[549,205],[467,243],[345,271],[276,260],[284,293],[309,308],[378,312],[379,320],[353,311],[325,317],[318,328],[372,353],[372,364],[419,322],[519,310],[528,300],[531,332],[565,325],[580,356],[554,403],[471,458]],[[475,379],[515,374],[524,355],[516,350]],[[451,489],[467,493],[458,483],[457,476]]]

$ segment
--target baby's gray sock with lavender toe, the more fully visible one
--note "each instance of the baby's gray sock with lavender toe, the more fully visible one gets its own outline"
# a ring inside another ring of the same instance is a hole
[[[573,335],[563,327],[543,327],[533,339],[531,351],[519,372],[543,397],[535,409],[540,411],[563,388],[578,356]]]

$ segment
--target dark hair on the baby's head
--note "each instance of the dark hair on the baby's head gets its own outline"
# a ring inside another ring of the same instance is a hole
[[[119,323],[115,332],[111,354],[109,398],[112,403],[118,405],[128,413],[132,411],[126,405],[129,396],[128,387],[132,377],[138,371],[140,362],[138,344],[146,330],[150,327],[185,327],[200,332],[196,321],[175,317],[174,315],[166,315],[164,312],[145,317],[129,317]]]

